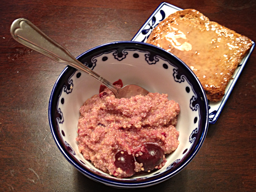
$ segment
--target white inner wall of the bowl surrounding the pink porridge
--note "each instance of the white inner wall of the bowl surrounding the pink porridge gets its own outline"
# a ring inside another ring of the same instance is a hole
[[[133,54],[137,53],[139,58],[134,58]],[[102,61],[102,58],[107,56],[107,61]],[[167,156],[166,165],[160,170],[145,173],[125,180],[134,180],[136,178],[146,179],[152,177],[156,173],[162,173],[171,168],[173,162],[179,162],[189,152],[194,140],[191,137],[193,131],[197,131],[199,126],[199,110],[192,110],[190,108],[190,100],[193,96],[196,96],[193,92],[192,86],[185,79],[184,82],[176,82],[173,77],[174,66],[170,65],[167,61],[158,58],[155,64],[148,64],[145,60],[145,53],[137,50],[128,51],[128,55],[122,61],[114,58],[112,53],[100,55],[97,58],[94,71],[108,79],[110,82],[115,82],[118,79],[122,79],[123,84],[137,84],[150,92],[167,93],[169,100],[174,100],[179,103],[181,112],[178,116],[178,123],[176,129],[179,131],[178,140],[180,144],[178,148]],[[168,69],[163,67],[163,64],[167,64]],[[83,155],[79,153],[76,142],[77,137],[77,123],[80,116],[79,109],[86,101],[86,99],[99,93],[100,83],[84,73],[77,78],[76,71],[70,78],[72,80],[73,88],[71,93],[68,93],[62,89],[62,93],[59,96],[58,108],[63,113],[64,121],[59,123],[60,133],[65,133],[62,136],[62,140],[71,146],[74,150],[74,158],[77,161],[83,161],[85,167],[92,170],[92,172],[99,172],[106,177],[111,177],[108,173],[104,173],[94,167],[91,162],[85,160]],[[189,93],[186,91],[186,87],[189,87]],[[64,104],[60,101],[64,99]],[[194,119],[197,117],[197,122],[194,123]],[[183,152],[187,151],[183,154]]]

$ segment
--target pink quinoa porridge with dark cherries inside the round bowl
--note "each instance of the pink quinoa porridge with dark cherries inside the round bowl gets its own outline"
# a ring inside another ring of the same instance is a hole
[[[168,101],[167,94],[116,99],[105,88],[80,108],[79,152],[118,178],[161,169],[165,155],[179,145],[175,128],[179,111],[179,104]]]

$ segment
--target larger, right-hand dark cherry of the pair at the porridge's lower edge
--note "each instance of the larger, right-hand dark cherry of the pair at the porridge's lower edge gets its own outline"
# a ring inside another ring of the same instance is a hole
[[[138,163],[143,163],[145,172],[154,170],[156,166],[160,165],[163,160],[164,151],[157,144],[145,143],[145,150],[137,151],[135,153],[135,160]],[[142,155],[140,155],[142,153]]]

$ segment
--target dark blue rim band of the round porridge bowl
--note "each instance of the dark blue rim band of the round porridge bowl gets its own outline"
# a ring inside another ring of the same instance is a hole
[[[70,164],[72,164],[80,173],[88,176],[90,179],[93,179],[95,181],[98,181],[98,182],[102,182],[106,185],[110,185],[110,186],[114,186],[114,187],[121,187],[121,188],[134,188],[134,187],[146,187],[146,186],[151,186],[151,185],[155,185],[157,183],[160,183],[160,182],[163,182],[167,179],[169,179],[170,177],[176,175],[177,173],[179,173],[184,167],[186,167],[190,162],[191,160],[195,157],[195,155],[197,154],[197,152],[199,151],[199,149],[201,148],[202,144],[203,144],[203,141],[206,137],[206,133],[207,133],[207,130],[208,130],[208,125],[209,125],[209,111],[208,111],[208,102],[207,102],[207,97],[206,97],[206,93],[200,83],[200,81],[198,80],[198,78],[196,77],[196,75],[194,74],[194,72],[181,60],[179,59],[177,56],[173,55],[172,53],[168,52],[167,50],[165,49],[162,49],[160,47],[157,47],[157,46],[154,46],[154,45],[151,45],[151,44],[148,44],[148,43],[142,43],[142,42],[135,42],[135,41],[116,41],[116,42],[110,42],[110,43],[105,43],[105,44],[102,44],[102,45],[99,45],[99,46],[96,46],[92,49],[89,49],[87,50],[86,52],[82,53],[81,55],[79,55],[77,57],[77,59],[79,60],[79,58],[81,58],[83,55],[86,55],[87,53],[89,52],[92,52],[93,50],[95,49],[99,49],[99,48],[103,48],[105,46],[109,46],[109,45],[114,45],[114,44],[125,44],[125,43],[129,43],[129,44],[140,44],[140,45],[145,45],[145,46],[148,46],[148,47],[153,47],[153,48],[157,48],[157,49],[160,49],[161,51],[164,51],[166,52],[167,54],[171,55],[172,57],[174,57],[180,64],[183,65],[183,67],[187,68],[192,76],[195,78],[195,80],[197,81],[197,83],[199,84],[199,87],[200,87],[200,90],[202,92],[202,96],[203,98],[201,98],[204,102],[204,110],[206,112],[205,114],[205,122],[202,122],[202,126],[203,126],[203,129],[202,129],[202,134],[201,134],[201,137],[200,139],[198,140],[198,143],[197,145],[195,146],[195,149],[194,151],[191,153],[191,155],[189,155],[186,159],[185,162],[183,162],[181,165],[179,165],[179,167],[176,169],[176,170],[173,170],[171,171],[170,173],[168,173],[167,175],[163,175],[163,176],[160,176],[158,178],[155,178],[152,177],[151,180],[148,180],[148,181],[143,181],[143,180],[139,180],[139,181],[133,181],[133,182],[130,182],[129,181],[122,181],[121,179],[120,180],[111,180],[111,179],[108,179],[108,178],[105,178],[103,176],[100,176],[100,175],[97,175],[95,173],[92,173],[89,169],[86,169],[86,168],[83,168],[82,166],[80,166],[79,164],[77,164],[75,161],[72,160],[71,156],[65,152],[65,150],[62,148],[62,145],[61,143],[59,142],[58,140],[58,134],[56,133],[56,131],[54,130],[54,126],[53,126],[53,122],[52,122],[52,118],[53,118],[53,114],[51,113],[52,112],[52,103],[53,103],[53,96],[54,96],[54,93],[55,93],[55,90],[56,90],[56,87],[57,85],[59,84],[59,81],[61,80],[62,76],[69,70],[69,69],[72,69],[73,67],[71,66],[67,66],[63,71],[62,73],[59,75],[59,77],[57,78],[54,86],[53,86],[53,89],[52,89],[52,92],[51,92],[51,95],[50,95],[50,100],[49,100],[49,107],[48,107],[48,119],[49,119],[49,124],[50,124],[50,129],[51,129],[51,132],[52,132],[52,135],[53,135],[53,138],[55,140],[55,143],[57,145],[57,147],[59,148],[59,150],[62,152],[62,155],[68,160],[68,162]],[[74,69],[74,68],[73,68]]]

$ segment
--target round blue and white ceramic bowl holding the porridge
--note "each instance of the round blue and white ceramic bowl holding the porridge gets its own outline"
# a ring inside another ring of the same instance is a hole
[[[209,116],[204,90],[194,73],[176,56],[140,42],[107,43],[77,58],[110,82],[136,84],[150,92],[168,93],[179,103],[178,148],[167,155],[160,170],[118,179],[97,169],[83,158],[76,142],[79,109],[99,93],[100,83],[84,73],[66,67],[50,96],[49,122],[53,137],[65,158],[81,173],[105,185],[139,188],[155,185],[181,171],[197,154],[205,139]]]

